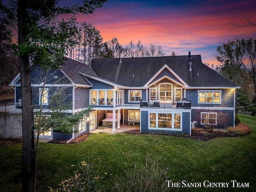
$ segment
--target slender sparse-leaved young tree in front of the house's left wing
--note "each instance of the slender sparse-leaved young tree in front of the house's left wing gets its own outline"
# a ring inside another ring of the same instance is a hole
[[[58,70],[52,70],[50,66],[40,70],[39,67],[34,69],[37,71],[37,76],[33,80],[36,84],[40,85],[40,90],[38,87],[34,90],[38,92],[37,95],[40,96],[40,103],[36,108],[34,113],[35,126],[34,130],[37,134],[36,137],[36,147],[34,152],[34,182],[33,191],[36,190],[36,178],[37,178],[37,162],[38,162],[38,148],[39,148],[39,136],[42,133],[58,131],[72,134],[72,132],[77,132],[78,124],[84,116],[92,110],[93,106],[84,106],[84,109],[80,112],[68,115],[66,110],[72,108],[72,102],[65,102],[67,95],[65,94],[66,88],[70,86],[63,86],[67,84],[65,78],[59,78],[56,82],[49,88],[45,88],[46,84],[51,84],[52,78],[55,76]],[[71,82],[70,82],[71,84]],[[48,102],[48,105],[44,105],[44,102]]]

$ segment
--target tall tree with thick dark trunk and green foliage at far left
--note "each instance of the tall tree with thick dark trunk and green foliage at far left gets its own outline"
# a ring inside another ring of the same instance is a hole
[[[66,36],[55,31],[54,19],[61,14],[92,13],[106,0],[88,0],[83,2],[83,6],[75,4],[71,7],[59,7],[58,2],[58,0],[17,0],[8,2],[9,8],[6,9],[8,18],[17,16],[18,23],[16,50],[20,60],[22,92],[22,192],[30,192],[31,177],[33,108],[30,58],[33,56],[32,58],[40,64],[58,68],[66,52],[64,45]],[[12,11],[15,8],[17,11]],[[33,38],[39,41],[32,41]],[[52,38],[55,39],[54,42],[50,41]]]

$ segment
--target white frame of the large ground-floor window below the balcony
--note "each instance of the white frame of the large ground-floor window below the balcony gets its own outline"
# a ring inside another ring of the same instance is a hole
[[[156,114],[156,124],[155,124],[155,127],[150,127],[150,114]],[[171,114],[172,115],[172,127],[171,128],[158,128],[158,114]],[[174,119],[174,114],[179,114],[180,115],[180,128],[177,129],[175,128],[174,126],[174,122],[175,122],[175,119]],[[148,129],[150,130],[169,130],[169,131],[182,131],[182,112],[154,112],[154,111],[149,111],[148,112]]]

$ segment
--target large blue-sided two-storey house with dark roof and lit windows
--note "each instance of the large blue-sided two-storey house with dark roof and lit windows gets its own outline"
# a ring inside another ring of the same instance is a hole
[[[39,104],[44,72],[32,66],[33,105]],[[94,110],[79,125],[79,134],[98,126],[140,125],[141,132],[191,134],[191,128],[209,124],[234,126],[235,92],[238,87],[202,63],[200,55],[149,58],[92,59],[90,66],[66,58],[59,70],[48,73],[44,105],[53,91],[65,87],[68,113],[93,104]],[[12,81],[15,100],[20,96],[19,75]],[[218,114],[224,113],[222,124]],[[63,135],[53,132],[52,138]],[[69,136],[71,137],[71,136]]]

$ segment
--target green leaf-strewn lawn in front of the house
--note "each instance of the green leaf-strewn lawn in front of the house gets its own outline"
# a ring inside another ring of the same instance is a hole
[[[122,176],[127,167],[145,163],[147,154],[158,158],[170,169],[167,180],[176,182],[237,182],[249,183],[250,188],[180,188],[182,191],[254,191],[256,188],[256,117],[240,115],[250,135],[236,138],[214,138],[199,141],[162,135],[91,134],[79,144],[40,143],[37,192],[56,188],[76,171],[78,162],[89,159],[102,164],[106,179]],[[18,192],[21,183],[22,144],[0,146],[0,191]],[[75,165],[75,166],[72,166]],[[231,184],[230,184],[231,185]]]

